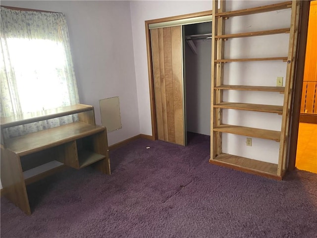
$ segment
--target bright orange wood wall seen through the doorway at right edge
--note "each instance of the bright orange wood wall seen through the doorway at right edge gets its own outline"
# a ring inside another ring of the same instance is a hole
[[[304,113],[306,111],[307,113],[317,114],[317,102],[316,102],[317,101],[316,99],[317,30],[316,29],[317,29],[317,0],[311,1],[310,13],[309,13],[301,113]]]

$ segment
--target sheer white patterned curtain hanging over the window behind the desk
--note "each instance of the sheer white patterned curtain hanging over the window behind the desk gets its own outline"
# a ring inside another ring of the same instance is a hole
[[[1,117],[79,103],[68,29],[62,13],[1,7]],[[14,137],[61,124],[67,116],[4,131]]]

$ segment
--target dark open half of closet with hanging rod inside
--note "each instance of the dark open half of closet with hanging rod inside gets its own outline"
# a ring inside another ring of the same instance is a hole
[[[210,136],[211,22],[183,26],[185,130]]]

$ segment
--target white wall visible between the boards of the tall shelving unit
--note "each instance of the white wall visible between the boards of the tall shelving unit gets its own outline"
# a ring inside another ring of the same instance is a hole
[[[272,4],[277,1],[227,1],[226,8],[242,9]],[[290,26],[290,9],[226,20],[226,33],[261,31]],[[225,58],[286,57],[289,34],[230,39],[225,44]],[[224,84],[276,86],[276,77],[286,76],[286,62],[254,61],[225,64]],[[223,101],[268,105],[283,105],[284,94],[228,90]],[[223,110],[223,123],[270,130],[281,129],[282,116],[272,113]],[[246,136],[223,133],[222,151],[265,162],[278,163],[279,142],[253,138],[252,147],[246,146]]]

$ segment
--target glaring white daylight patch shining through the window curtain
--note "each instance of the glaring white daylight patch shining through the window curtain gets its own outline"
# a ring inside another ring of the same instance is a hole
[[[69,102],[61,42],[8,38],[7,45],[23,113],[56,108]]]

